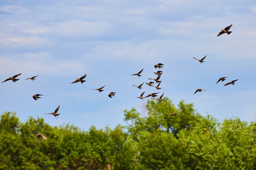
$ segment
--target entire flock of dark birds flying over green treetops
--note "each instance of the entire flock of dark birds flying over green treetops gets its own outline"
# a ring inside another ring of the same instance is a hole
[[[227,33],[227,34],[229,35],[229,34],[232,32],[232,31],[229,31],[229,29],[231,28],[231,26],[232,26],[232,24],[229,25],[229,26],[227,26],[225,29],[222,29],[222,30],[220,31],[220,33],[217,35],[217,37],[220,36],[220,35],[222,35],[222,34],[224,34],[224,33]],[[193,57],[193,58],[194,58],[195,60],[198,60],[198,61],[202,64],[202,63],[204,62],[203,60],[206,58],[206,55],[205,55],[202,59],[200,59],[200,60],[199,60],[199,59],[196,59],[195,57]],[[164,64],[158,63],[158,64],[155,64],[154,67],[161,69],[163,66],[164,66]],[[142,71],[143,71],[143,69],[142,69],[141,71],[139,71],[138,73],[135,73],[135,74],[132,74],[132,75],[137,75],[138,77],[141,77],[140,74],[141,74]],[[154,72],[154,73],[157,75],[157,78],[156,78],[156,79],[148,78],[148,79],[154,80],[155,82],[153,82],[153,81],[151,81],[151,82],[146,82],[146,84],[147,84],[148,86],[152,87],[153,84],[156,83],[157,86],[153,86],[153,87],[155,87],[157,90],[159,90],[159,89],[161,89],[161,88],[159,87],[159,85],[160,85],[161,82],[162,82],[162,80],[160,81],[159,79],[160,79],[161,75],[163,74],[163,72],[159,70],[159,71]],[[12,82],[15,83],[15,82],[17,82],[17,81],[19,80],[19,79],[17,79],[17,77],[18,77],[19,75],[21,75],[21,73],[20,73],[20,74],[17,74],[17,75],[13,75],[12,77],[9,77],[9,78],[5,79],[3,82],[7,82],[7,81],[9,81],[9,80],[12,80]],[[80,77],[80,78],[77,78],[74,82],[72,82],[72,83],[70,83],[70,84],[77,83],[77,82],[81,82],[81,84],[83,84],[83,83],[86,81],[86,80],[83,80],[83,79],[85,79],[86,75],[87,75],[87,74],[83,75],[83,76]],[[34,80],[36,79],[35,77],[38,77],[38,75],[33,76],[33,77],[29,77],[29,78],[27,78],[27,79],[31,79],[32,81],[34,81]],[[216,82],[216,84],[217,84],[218,82],[220,82],[220,81],[222,81],[222,82],[225,81],[226,78],[227,78],[227,77],[220,77],[220,79],[218,79],[218,81]],[[25,80],[27,80],[27,79],[25,79]],[[230,82],[228,82],[227,84],[225,84],[224,86],[227,86],[227,85],[229,85],[229,84],[232,84],[232,85],[234,86],[234,84],[235,84],[235,82],[236,82],[237,80],[238,80],[238,79],[235,79],[235,80],[233,80],[233,81],[230,81]],[[2,82],[2,83],[3,83],[3,82]],[[136,85],[132,85],[132,86],[135,86],[135,87],[139,88],[139,90],[140,90],[140,89],[142,88],[141,86],[142,86],[143,84],[144,84],[144,82],[143,82],[142,84],[140,84],[139,86],[136,86]],[[96,89],[92,89],[92,90],[98,90],[98,91],[101,93],[102,91],[104,91],[104,90],[103,90],[104,87],[105,87],[105,85],[102,86],[101,88],[96,88]],[[198,88],[198,89],[195,91],[195,93],[201,92],[201,91],[206,91],[206,90],[201,89],[201,88]],[[140,95],[139,97],[137,97],[137,98],[144,100],[144,98],[151,97],[150,99],[155,99],[155,97],[158,96],[157,94],[158,94],[159,92],[157,92],[157,93],[149,93],[146,97],[143,97],[144,93],[145,93],[145,91],[144,91],[143,93],[141,93],[141,95]],[[194,94],[195,94],[195,93],[194,93]],[[116,94],[115,92],[110,92],[110,93],[108,94],[108,97],[110,97],[110,98],[115,97],[115,94]],[[162,99],[163,95],[164,95],[164,93],[163,93],[160,97],[158,97],[156,100],[158,100],[159,102],[164,101],[164,99]],[[33,95],[32,97],[33,97],[34,100],[38,100],[38,99],[41,98],[40,96],[43,96],[43,95],[36,94],[36,95]],[[54,112],[52,112],[52,113],[45,113],[45,114],[54,115],[54,117],[56,117],[56,119],[57,119],[58,115],[60,115],[60,114],[57,114],[59,108],[60,108],[60,105],[56,108],[56,110],[55,110]],[[180,113],[172,113],[171,115],[168,116],[168,118],[171,117],[171,116],[177,116],[177,115],[181,115],[181,114],[180,114]],[[37,135],[37,141],[40,141],[41,138],[43,138],[43,139],[45,139],[45,140],[47,139],[47,137],[46,137],[45,135],[38,133],[38,135]]]

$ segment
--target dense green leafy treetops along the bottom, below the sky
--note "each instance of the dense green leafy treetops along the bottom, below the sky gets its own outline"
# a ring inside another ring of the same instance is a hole
[[[125,110],[126,126],[81,131],[52,127],[42,118],[25,123],[16,113],[0,119],[0,170],[255,170],[256,122],[222,122],[176,107],[168,98],[148,100],[146,112]],[[171,113],[181,113],[170,117]],[[36,141],[42,133],[47,140]]]

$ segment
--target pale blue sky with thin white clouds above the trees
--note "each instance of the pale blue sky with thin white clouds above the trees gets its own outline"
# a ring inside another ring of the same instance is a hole
[[[1,0],[0,23],[0,80],[22,73],[0,84],[0,112],[22,122],[115,128],[126,124],[124,110],[143,108],[146,99],[136,97],[144,91],[220,121],[256,120],[255,0]],[[231,34],[217,37],[231,24]],[[205,55],[202,64],[193,59]],[[157,63],[159,91],[146,85]],[[70,84],[85,74],[86,82]],[[219,77],[227,79],[216,84]],[[193,95],[197,88],[206,91]],[[59,105],[58,119],[44,114]]]

